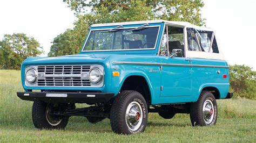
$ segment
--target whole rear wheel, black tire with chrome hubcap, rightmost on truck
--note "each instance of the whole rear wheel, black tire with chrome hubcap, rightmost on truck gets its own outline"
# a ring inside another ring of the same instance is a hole
[[[198,101],[190,107],[192,126],[215,125],[217,117],[218,109],[214,95],[210,91],[202,91]]]

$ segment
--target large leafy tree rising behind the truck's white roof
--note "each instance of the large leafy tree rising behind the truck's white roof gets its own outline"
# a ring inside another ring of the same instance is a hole
[[[200,8],[204,6],[201,0],[197,1],[65,1],[71,10],[75,11],[78,20],[74,23],[73,39],[70,39],[71,51],[79,53],[89,27],[97,23],[130,22],[138,20],[165,19],[173,21],[186,21],[196,25],[204,25]],[[64,33],[63,33],[64,34]],[[66,34],[66,33],[65,33]],[[59,36],[59,35],[58,35]],[[62,42],[58,40],[58,42]],[[53,44],[57,45],[57,41]],[[68,47],[68,45],[60,44]],[[54,48],[52,48],[53,50]],[[59,47],[63,55],[68,55],[65,48]],[[57,56],[50,51],[51,56]]]

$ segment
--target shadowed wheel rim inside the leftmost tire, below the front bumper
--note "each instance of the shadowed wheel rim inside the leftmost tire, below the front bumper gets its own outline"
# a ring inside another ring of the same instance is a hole
[[[52,104],[48,104],[47,107],[46,107],[46,112],[45,112],[45,115],[46,115],[46,120],[48,121],[48,123],[52,126],[58,126],[61,122],[62,122],[62,119],[59,119],[57,117],[53,117],[51,116],[51,111],[52,111]]]

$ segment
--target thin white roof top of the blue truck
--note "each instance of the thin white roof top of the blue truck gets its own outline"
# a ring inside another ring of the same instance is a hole
[[[114,25],[132,25],[132,24],[147,24],[147,23],[167,23],[173,26],[179,26],[179,27],[191,27],[191,28],[197,28],[201,30],[211,30],[211,28],[206,27],[200,27],[197,25],[193,25],[188,22],[174,22],[174,21],[167,21],[167,20],[146,20],[146,21],[136,21],[136,22],[121,22],[121,23],[103,23],[103,24],[93,24],[91,27],[100,27],[100,26],[114,26]]]

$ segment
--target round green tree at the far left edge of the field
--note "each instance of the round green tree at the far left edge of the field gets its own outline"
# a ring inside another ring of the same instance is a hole
[[[19,69],[23,60],[43,53],[39,42],[24,33],[5,34],[0,42],[0,68]]]

